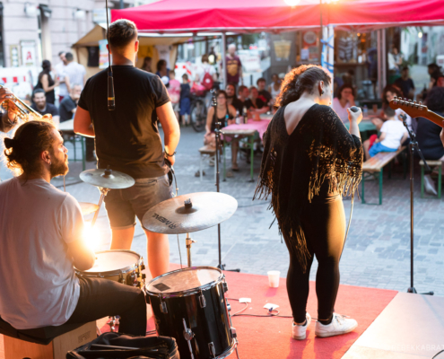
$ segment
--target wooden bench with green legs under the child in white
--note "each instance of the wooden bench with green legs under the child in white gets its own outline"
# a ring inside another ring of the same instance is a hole
[[[362,180],[361,180],[361,183],[362,183],[362,193],[361,193],[362,203],[366,203],[365,197],[364,197],[364,195],[365,195],[365,192],[364,192],[365,178],[364,178],[363,174],[365,172],[370,173],[373,177],[375,177],[379,180],[379,205],[382,205],[383,169],[387,164],[390,164],[398,154],[404,153],[404,150],[405,150],[405,146],[401,147],[401,149],[397,150],[396,152],[376,153],[376,155],[371,157],[370,160],[367,160],[366,162],[363,163],[363,165],[362,165]],[[406,175],[405,163],[406,163],[406,161],[404,161],[404,178]],[[391,168],[389,167],[388,178],[390,178],[390,176],[391,176]],[[376,204],[369,204],[369,205],[376,205]]]

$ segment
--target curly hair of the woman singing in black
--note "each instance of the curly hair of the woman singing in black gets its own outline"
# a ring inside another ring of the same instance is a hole
[[[332,78],[328,70],[318,65],[301,65],[285,75],[281,84],[281,92],[275,106],[282,107],[299,100],[303,92],[313,93],[319,81],[330,84]]]

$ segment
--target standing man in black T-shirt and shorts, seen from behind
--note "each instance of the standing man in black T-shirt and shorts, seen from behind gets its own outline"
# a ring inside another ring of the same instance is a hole
[[[165,159],[174,164],[180,131],[159,76],[135,67],[139,48],[135,23],[125,19],[112,22],[109,45],[116,109],[107,108],[108,70],[103,70],[92,76],[83,89],[75,111],[74,131],[96,138],[100,169],[109,166],[135,179],[133,187],[112,189],[105,197],[112,231],[111,250],[129,250],[135,216],[142,221],[152,206],[172,197]],[[158,119],[163,130],[163,152]],[[153,277],[160,276],[169,271],[168,236],[144,231],[148,266]]]

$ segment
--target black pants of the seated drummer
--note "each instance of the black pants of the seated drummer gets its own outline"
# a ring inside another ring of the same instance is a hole
[[[120,316],[119,333],[146,335],[144,292],[134,286],[102,278],[79,277],[79,283],[79,302],[66,323],[87,323]]]

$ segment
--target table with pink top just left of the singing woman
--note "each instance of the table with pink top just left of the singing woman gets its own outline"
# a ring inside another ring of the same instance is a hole
[[[248,144],[247,148],[250,150],[250,174],[251,179],[250,182],[254,182],[253,179],[253,170],[254,170],[254,143],[255,143],[255,136],[259,136],[259,138],[262,140],[262,137],[264,136],[266,132],[266,128],[268,127],[268,124],[270,123],[269,119],[261,119],[260,121],[255,121],[253,119],[248,119],[248,123],[246,124],[233,124],[229,125],[227,127],[222,128],[222,139],[224,138],[234,138],[235,136],[244,136],[248,137]],[[225,164],[225,147],[227,144],[227,141],[223,140],[223,180],[226,179],[226,164]]]

